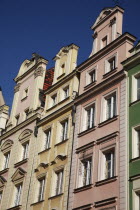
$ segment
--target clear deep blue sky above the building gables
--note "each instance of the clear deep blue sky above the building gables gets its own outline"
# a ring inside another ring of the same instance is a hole
[[[140,0],[120,0],[125,9],[123,32],[140,39]],[[92,48],[90,27],[113,0],[0,0],[0,86],[6,103],[13,100],[13,78],[21,63],[37,52],[54,65],[52,58],[62,46],[80,46],[78,64]]]

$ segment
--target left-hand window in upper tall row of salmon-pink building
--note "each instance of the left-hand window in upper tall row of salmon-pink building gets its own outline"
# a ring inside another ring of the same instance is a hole
[[[83,130],[88,130],[95,126],[95,104],[84,109]]]

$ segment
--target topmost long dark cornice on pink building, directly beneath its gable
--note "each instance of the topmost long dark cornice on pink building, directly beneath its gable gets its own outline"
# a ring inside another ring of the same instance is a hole
[[[98,59],[101,59],[102,56],[106,55],[108,52],[114,50],[115,48],[118,48],[118,46],[123,44],[126,41],[130,41],[134,43],[136,40],[136,37],[131,35],[130,33],[126,32],[119,36],[117,39],[115,39],[113,42],[108,44],[106,47],[99,50],[97,53],[89,57],[87,60],[85,60],[83,63],[81,63],[79,66],[76,67],[77,71],[82,71],[86,66],[88,66],[90,63],[96,62]]]

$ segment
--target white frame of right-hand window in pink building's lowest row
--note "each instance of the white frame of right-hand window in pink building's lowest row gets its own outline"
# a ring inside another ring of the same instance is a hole
[[[106,154],[112,154],[111,155],[111,172],[110,177],[106,176]],[[99,157],[100,157],[100,164],[99,164],[99,181],[112,178],[116,176],[116,147],[110,146],[108,148],[101,149],[99,151]]]

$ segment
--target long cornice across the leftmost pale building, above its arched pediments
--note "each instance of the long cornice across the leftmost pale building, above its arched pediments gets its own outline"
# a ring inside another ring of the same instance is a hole
[[[31,122],[40,119],[41,115],[39,113],[36,113],[35,115],[33,115],[32,117],[28,118],[27,120],[23,121],[22,123],[20,123],[19,125],[15,126],[14,128],[12,128],[11,130],[7,131],[6,133],[4,133],[1,137],[0,137],[0,141],[4,140],[5,138],[9,137],[10,135],[12,135],[13,133],[17,132],[18,130],[24,128],[25,126],[27,126],[28,124],[30,124]]]

